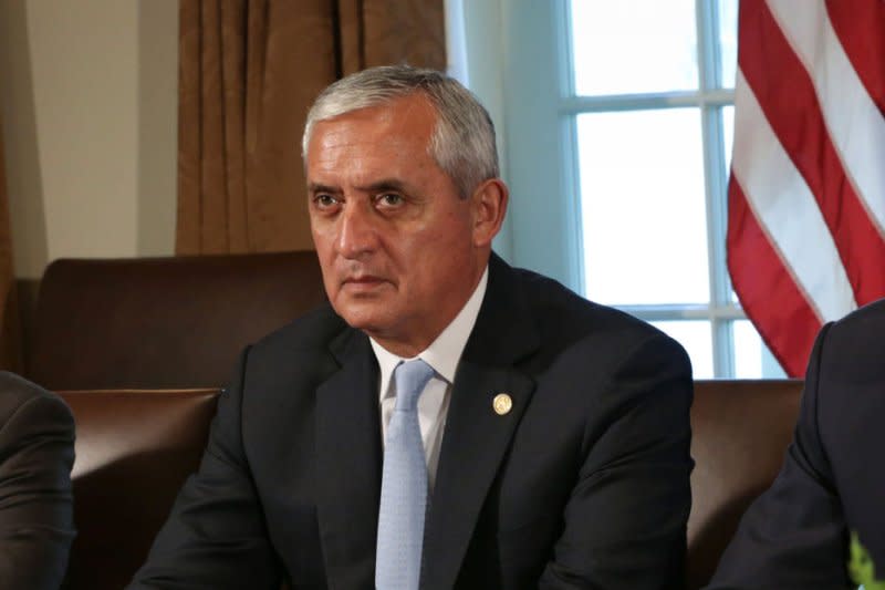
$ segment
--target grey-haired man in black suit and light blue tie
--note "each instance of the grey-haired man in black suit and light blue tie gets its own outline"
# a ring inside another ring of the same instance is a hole
[[[686,354],[491,255],[508,194],[485,108],[372,69],[320,95],[303,149],[331,304],[243,354],[133,588],[679,587]]]

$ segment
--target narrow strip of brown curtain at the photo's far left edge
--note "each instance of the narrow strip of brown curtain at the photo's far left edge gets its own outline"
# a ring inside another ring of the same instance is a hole
[[[3,130],[0,125],[0,369],[21,372],[21,340],[2,138]]]

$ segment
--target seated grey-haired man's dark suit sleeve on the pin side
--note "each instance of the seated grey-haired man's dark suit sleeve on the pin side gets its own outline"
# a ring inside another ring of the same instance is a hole
[[[540,588],[683,588],[691,366],[662,334],[624,358],[598,401],[607,423],[585,435],[565,528]]]

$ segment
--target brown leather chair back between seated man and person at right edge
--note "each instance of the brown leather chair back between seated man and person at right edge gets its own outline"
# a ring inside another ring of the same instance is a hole
[[[740,517],[778,475],[801,392],[795,380],[695,382],[689,589],[709,581]]]

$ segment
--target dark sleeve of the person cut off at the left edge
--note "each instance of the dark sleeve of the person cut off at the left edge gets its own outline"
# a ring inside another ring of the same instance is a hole
[[[67,405],[0,371],[0,588],[61,584],[74,539],[73,463]]]

